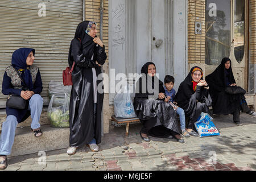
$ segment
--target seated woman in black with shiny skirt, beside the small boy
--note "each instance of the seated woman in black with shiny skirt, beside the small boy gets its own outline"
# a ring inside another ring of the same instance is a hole
[[[184,143],[179,134],[175,110],[167,104],[163,82],[155,76],[155,64],[147,62],[141,73],[143,76],[136,83],[134,98],[135,113],[143,124],[141,138],[150,142],[148,135],[159,138],[174,136],[178,142]]]

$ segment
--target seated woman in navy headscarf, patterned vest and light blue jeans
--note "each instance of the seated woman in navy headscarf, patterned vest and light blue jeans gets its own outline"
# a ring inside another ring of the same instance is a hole
[[[11,154],[14,143],[15,130],[18,123],[26,120],[30,115],[32,118],[31,130],[35,137],[41,137],[39,119],[43,109],[42,80],[39,69],[32,66],[35,60],[35,49],[20,48],[14,51],[11,66],[6,68],[3,76],[2,93],[5,95],[15,94],[24,100],[28,100],[27,109],[14,109],[6,106],[6,121],[2,125],[0,141],[0,169],[7,167],[6,155]],[[18,75],[18,71],[21,79]],[[24,80],[24,82],[22,81]],[[25,88],[27,86],[27,88]]]

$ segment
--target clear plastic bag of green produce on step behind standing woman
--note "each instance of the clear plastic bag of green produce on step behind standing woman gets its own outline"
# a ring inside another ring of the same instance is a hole
[[[56,96],[52,95],[49,102],[47,116],[51,122],[52,127],[69,127],[69,101],[70,95],[65,94],[65,98],[62,103],[60,100],[56,100]]]

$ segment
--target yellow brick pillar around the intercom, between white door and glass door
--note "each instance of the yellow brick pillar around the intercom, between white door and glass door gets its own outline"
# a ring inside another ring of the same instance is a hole
[[[201,22],[202,34],[195,34],[195,22]],[[205,0],[188,1],[188,63],[205,61]]]

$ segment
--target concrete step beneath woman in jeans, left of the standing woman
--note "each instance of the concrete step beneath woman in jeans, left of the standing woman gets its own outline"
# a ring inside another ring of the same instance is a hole
[[[39,151],[51,151],[69,146],[69,128],[53,128],[42,125],[42,137],[35,137],[30,127],[17,128],[14,144],[9,156],[34,154]]]

